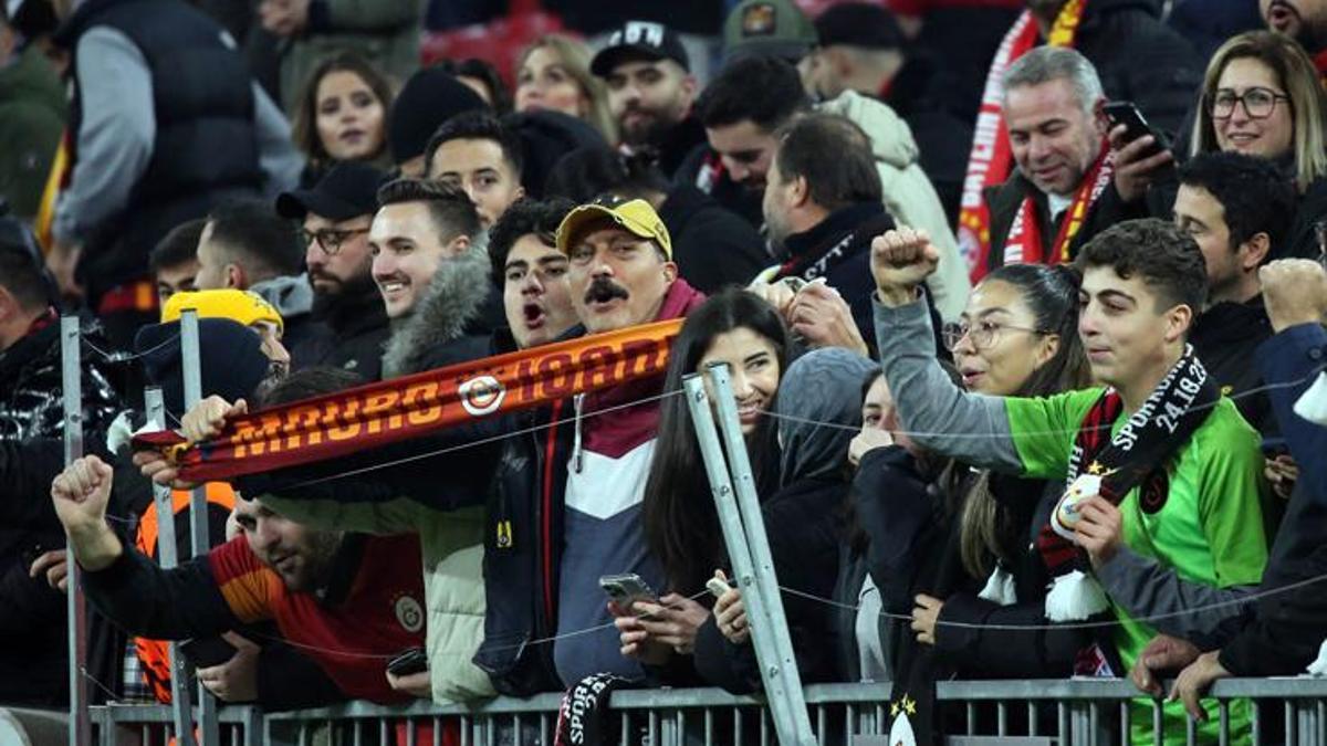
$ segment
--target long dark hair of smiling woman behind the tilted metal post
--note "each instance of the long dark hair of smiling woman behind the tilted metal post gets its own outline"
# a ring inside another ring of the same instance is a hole
[[[682,390],[682,377],[697,372],[701,357],[710,349],[714,338],[739,328],[768,340],[779,361],[779,373],[787,370],[788,332],[783,319],[759,297],[740,288],[729,288],[711,296],[686,317],[686,324],[673,342],[664,390]],[[719,516],[710,496],[705,461],[701,458],[685,397],[664,400],[658,433],[645,483],[645,542],[664,567],[669,588],[690,595],[705,587],[715,564],[722,561],[725,550]],[[762,418],[756,431],[747,437],[747,450],[758,488],[776,485],[778,441],[776,427],[770,418]]]

